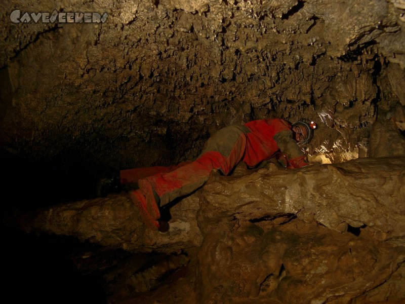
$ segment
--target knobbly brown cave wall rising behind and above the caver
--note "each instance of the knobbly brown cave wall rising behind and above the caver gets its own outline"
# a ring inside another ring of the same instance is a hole
[[[0,6],[6,157],[169,165],[229,124],[310,117],[307,151],[336,162],[367,154],[380,104],[405,102],[402,1]],[[13,23],[16,9],[108,18]]]

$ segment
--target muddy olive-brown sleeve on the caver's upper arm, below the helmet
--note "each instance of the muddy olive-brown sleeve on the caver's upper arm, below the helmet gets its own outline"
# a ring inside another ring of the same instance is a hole
[[[301,168],[308,166],[306,156],[293,138],[291,130],[278,132],[273,136],[278,148],[284,158],[286,158],[286,168]]]

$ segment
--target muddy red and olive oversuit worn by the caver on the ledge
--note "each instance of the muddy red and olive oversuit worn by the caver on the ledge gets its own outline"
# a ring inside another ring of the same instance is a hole
[[[208,180],[213,170],[228,175],[241,161],[253,168],[276,154],[285,157],[288,168],[309,165],[294,139],[289,122],[282,119],[256,120],[245,125],[225,127],[216,132],[208,139],[195,161],[174,167],[123,170],[121,181],[136,182],[137,177],[147,170],[156,172],[151,176],[140,178],[139,190],[130,192],[138,208],[142,209],[142,206],[139,206],[140,202],[137,200],[141,199],[146,204],[143,208],[147,209],[148,214],[143,214],[143,218],[145,222],[147,222],[145,216],[151,219],[149,227],[153,228],[151,222],[156,227],[159,226],[156,220],[160,217],[160,213],[156,206],[164,206],[175,198],[192,193]],[[145,210],[143,211],[146,212]]]

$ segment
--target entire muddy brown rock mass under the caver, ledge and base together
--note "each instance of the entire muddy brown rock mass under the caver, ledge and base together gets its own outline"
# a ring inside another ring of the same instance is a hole
[[[13,222],[28,233],[161,255],[149,267],[110,270],[111,303],[399,303],[404,185],[403,157],[294,170],[269,163],[213,174],[170,209],[166,233],[145,230],[126,193]]]

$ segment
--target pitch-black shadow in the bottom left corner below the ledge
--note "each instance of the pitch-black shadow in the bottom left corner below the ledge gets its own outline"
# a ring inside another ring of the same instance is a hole
[[[3,296],[12,302],[106,304],[101,277],[80,274],[71,259],[78,240],[28,234],[2,224]]]

